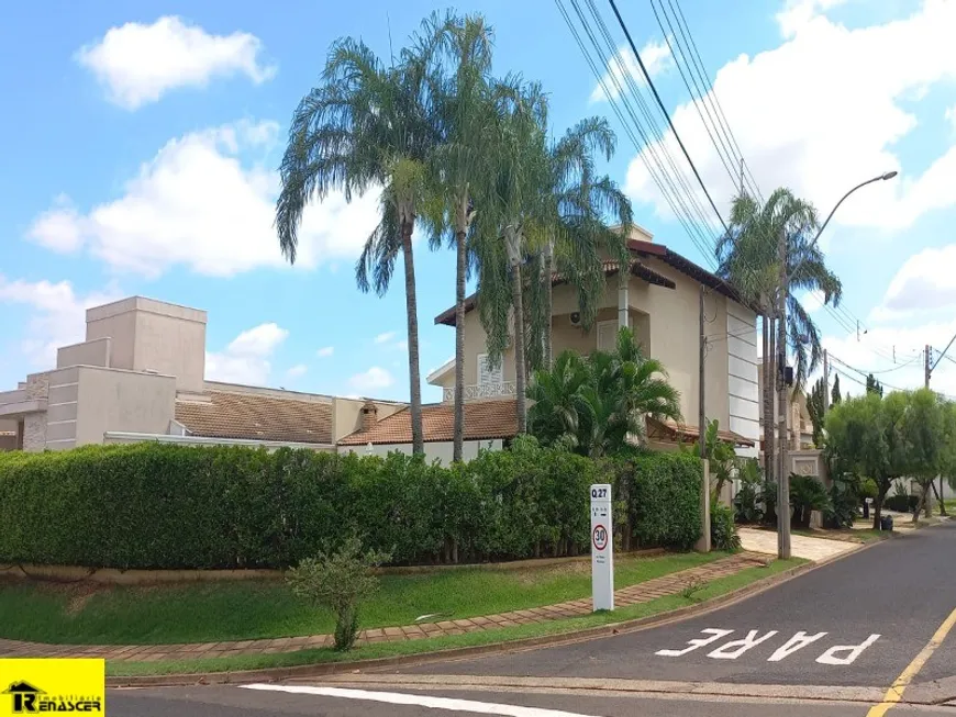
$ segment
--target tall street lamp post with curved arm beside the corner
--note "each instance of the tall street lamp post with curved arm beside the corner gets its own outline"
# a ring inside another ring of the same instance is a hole
[[[847,197],[867,184],[886,181],[896,176],[897,171],[893,170],[872,179],[867,179],[841,197],[840,201],[836,202],[836,205],[827,214],[823,225],[816,232],[813,242],[810,243],[810,248],[812,249],[816,246],[823,229],[830,224],[830,220],[833,219],[836,210],[840,209],[840,205],[843,204]],[[777,299],[777,410],[780,412],[777,416],[777,445],[780,452],[780,461],[778,463],[780,474],[777,480],[777,556],[781,560],[786,560],[790,558],[790,471],[787,470],[787,413],[789,412],[789,394],[785,381],[787,370],[787,296],[790,291],[790,279],[793,278],[800,265],[798,264],[793,267],[792,271],[787,272],[787,233],[783,228],[780,229],[780,236],[777,240],[777,257],[780,262],[780,291]]]

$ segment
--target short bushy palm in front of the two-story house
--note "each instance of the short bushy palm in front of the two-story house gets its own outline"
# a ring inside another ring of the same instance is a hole
[[[527,394],[535,401],[529,414],[535,436],[593,458],[642,439],[648,417],[681,417],[680,393],[660,361],[644,356],[630,328],[618,333],[614,352],[594,351],[585,360],[563,351],[554,369],[535,372]]]

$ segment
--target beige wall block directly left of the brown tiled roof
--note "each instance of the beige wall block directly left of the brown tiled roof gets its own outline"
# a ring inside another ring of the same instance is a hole
[[[175,377],[96,367],[77,370],[77,446],[101,444],[108,430],[167,433],[175,412]]]

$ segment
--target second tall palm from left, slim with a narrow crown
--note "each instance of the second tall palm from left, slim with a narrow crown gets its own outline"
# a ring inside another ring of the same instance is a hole
[[[462,460],[465,438],[465,282],[468,234],[475,216],[478,184],[488,175],[488,127],[494,105],[490,97],[492,31],[480,15],[448,15],[435,32],[453,71],[443,78],[438,115],[444,131],[433,158],[455,248],[455,428],[453,460]],[[444,231],[444,227],[443,227]]]

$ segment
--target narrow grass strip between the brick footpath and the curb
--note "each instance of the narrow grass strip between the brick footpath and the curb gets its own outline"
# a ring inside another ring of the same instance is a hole
[[[379,642],[360,648],[351,652],[336,652],[330,648],[299,650],[298,652],[285,652],[276,654],[249,654],[234,658],[216,658],[207,660],[170,660],[159,662],[107,662],[107,674],[110,676],[133,676],[147,674],[193,674],[200,672],[233,672],[237,670],[260,670],[267,668],[287,668],[299,664],[320,664],[327,662],[345,662],[355,660],[373,660],[377,658],[390,658],[404,654],[420,654],[436,650],[452,648],[475,647],[518,640],[522,638],[541,637],[546,635],[560,635],[574,632],[589,627],[621,623],[623,620],[649,617],[668,610],[674,610],[687,605],[700,603],[720,595],[725,595],[734,590],[744,587],[763,578],[789,570],[807,562],[800,558],[790,560],[775,560],[766,568],[747,568],[741,572],[721,578],[708,583],[693,594],[692,600],[681,595],[668,595],[649,603],[631,605],[614,610],[613,613],[594,613],[586,617],[576,617],[548,623],[522,625],[519,627],[487,630],[481,632],[467,632],[448,637],[426,640],[409,640],[405,642]]]

